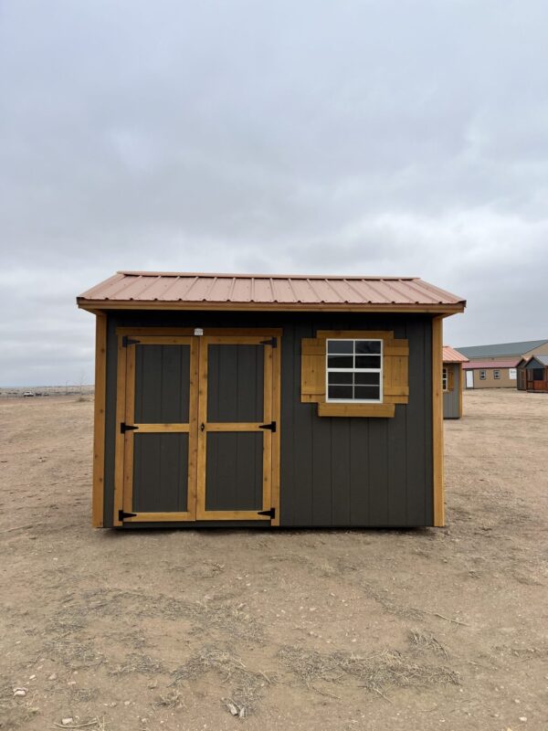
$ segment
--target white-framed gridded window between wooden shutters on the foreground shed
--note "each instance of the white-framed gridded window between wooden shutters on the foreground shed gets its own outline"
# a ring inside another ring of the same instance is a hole
[[[326,356],[327,401],[382,403],[382,340],[328,340]]]

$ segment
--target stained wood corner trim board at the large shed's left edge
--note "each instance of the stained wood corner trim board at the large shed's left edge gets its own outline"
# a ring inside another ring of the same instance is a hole
[[[93,427],[93,487],[91,493],[91,525],[104,524],[105,492],[105,408],[107,393],[107,315],[95,318],[95,387]]]

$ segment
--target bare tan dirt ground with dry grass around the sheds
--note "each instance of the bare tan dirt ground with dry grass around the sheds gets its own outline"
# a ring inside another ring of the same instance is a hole
[[[2,399],[2,731],[548,729],[548,396],[464,406],[446,528],[122,533],[91,400]]]

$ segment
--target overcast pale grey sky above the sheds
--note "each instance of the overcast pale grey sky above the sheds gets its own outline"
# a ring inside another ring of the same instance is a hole
[[[420,276],[548,338],[545,0],[0,0],[0,386],[116,270]]]

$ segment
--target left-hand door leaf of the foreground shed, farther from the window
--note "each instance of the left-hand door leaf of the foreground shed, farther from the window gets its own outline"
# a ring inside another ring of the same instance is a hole
[[[126,335],[120,350],[116,524],[195,520],[195,338]]]

